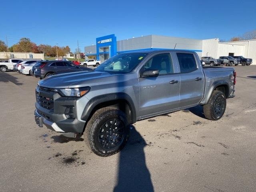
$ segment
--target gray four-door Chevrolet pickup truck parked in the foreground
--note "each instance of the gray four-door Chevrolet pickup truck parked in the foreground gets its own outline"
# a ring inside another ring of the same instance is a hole
[[[196,52],[128,52],[92,72],[40,80],[34,115],[38,126],[68,137],[84,134],[95,154],[110,156],[138,120],[198,105],[207,119],[219,120],[235,84],[234,68],[203,68]]]

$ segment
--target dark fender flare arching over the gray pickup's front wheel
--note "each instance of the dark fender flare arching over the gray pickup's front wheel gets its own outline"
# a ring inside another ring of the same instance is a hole
[[[134,102],[132,101],[132,98],[126,94],[126,93],[111,93],[111,94],[104,94],[100,96],[96,96],[89,100],[89,102],[86,104],[84,111],[82,112],[81,119],[84,121],[87,121],[88,118],[91,116],[92,111],[94,108],[101,103],[104,102],[110,102],[115,100],[126,100],[128,103],[130,110],[131,110],[131,120],[132,123],[136,122],[136,108],[134,106]]]

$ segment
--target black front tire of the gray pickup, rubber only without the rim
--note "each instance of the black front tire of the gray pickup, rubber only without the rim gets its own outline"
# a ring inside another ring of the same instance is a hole
[[[119,146],[114,148],[106,149],[102,146],[99,141],[100,129],[104,124],[110,120],[116,118],[121,120],[124,125],[124,135],[122,142]],[[87,146],[98,156],[106,157],[118,153],[126,144],[129,137],[129,124],[128,118],[124,112],[112,107],[105,107],[97,110],[89,122],[86,125],[84,132],[84,139]]]

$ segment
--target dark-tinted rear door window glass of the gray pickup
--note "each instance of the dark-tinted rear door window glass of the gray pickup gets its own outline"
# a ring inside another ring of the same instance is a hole
[[[197,69],[196,60],[193,54],[177,53],[180,64],[180,72],[190,72]]]

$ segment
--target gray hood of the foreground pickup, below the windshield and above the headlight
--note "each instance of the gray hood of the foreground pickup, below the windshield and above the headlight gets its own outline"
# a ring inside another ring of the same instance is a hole
[[[87,82],[89,80],[103,78],[107,76],[113,76],[107,72],[73,72],[73,73],[65,73],[54,75],[49,78],[44,78],[38,81],[38,85],[46,88],[68,88],[69,86],[72,87],[79,87],[80,84]],[[77,85],[77,86],[76,86]]]

